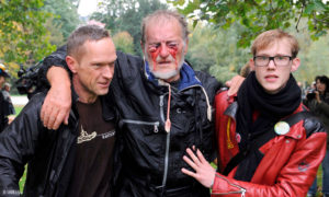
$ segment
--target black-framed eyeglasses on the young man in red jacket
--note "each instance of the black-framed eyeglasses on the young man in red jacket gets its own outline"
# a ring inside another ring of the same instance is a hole
[[[253,57],[254,65],[257,67],[266,67],[271,60],[274,61],[276,67],[286,67],[290,65],[290,61],[293,59],[291,56],[256,56]]]

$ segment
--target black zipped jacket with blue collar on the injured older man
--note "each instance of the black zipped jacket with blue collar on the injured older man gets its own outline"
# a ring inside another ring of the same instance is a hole
[[[120,115],[115,150],[121,161],[115,196],[208,196],[209,189],[184,175],[182,160],[188,147],[201,149],[208,161],[215,158],[212,106],[220,83],[186,63],[178,89],[171,88],[171,130],[164,131],[169,88],[160,84],[140,57],[117,51],[109,97]],[[67,69],[65,47],[45,59],[41,69],[55,65]],[[115,178],[116,179],[116,178]]]

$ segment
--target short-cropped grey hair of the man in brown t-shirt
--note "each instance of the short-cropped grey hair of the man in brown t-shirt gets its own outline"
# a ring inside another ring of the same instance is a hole
[[[109,31],[98,25],[83,25],[75,30],[67,40],[67,54],[80,57],[84,53],[82,47],[87,40],[111,38]]]

